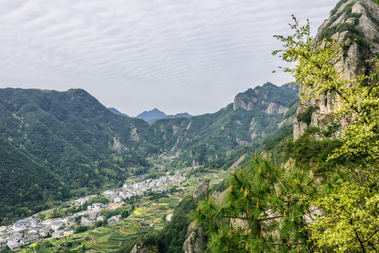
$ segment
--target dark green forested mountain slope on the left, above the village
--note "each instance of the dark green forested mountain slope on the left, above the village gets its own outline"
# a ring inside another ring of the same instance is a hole
[[[126,168],[149,166],[134,150],[156,152],[146,122],[114,115],[81,89],[0,89],[0,122],[6,150],[0,153],[0,216],[20,211],[15,204],[39,209],[36,202],[123,181],[131,173]]]

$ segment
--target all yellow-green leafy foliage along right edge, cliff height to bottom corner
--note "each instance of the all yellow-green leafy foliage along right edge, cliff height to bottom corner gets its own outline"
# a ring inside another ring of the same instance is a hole
[[[323,39],[311,44],[309,23],[299,27],[298,20],[293,19],[295,24],[291,28],[295,34],[276,36],[284,42],[285,49],[274,54],[281,53],[284,60],[297,62],[295,67],[284,70],[291,72],[302,86],[303,101],[318,98],[322,93],[338,94],[335,114],[350,124],[343,130],[342,145],[328,159],[365,162],[358,168],[347,168],[344,181],[331,183],[328,176],[322,181],[324,189],[310,202],[321,207],[323,213],[317,223],[310,224],[311,240],[320,251],[376,252],[379,247],[379,63],[374,63],[375,71],[371,74],[343,79],[335,64],[343,57],[345,42]],[[379,54],[375,55],[379,60]],[[337,171],[333,169],[331,176]]]

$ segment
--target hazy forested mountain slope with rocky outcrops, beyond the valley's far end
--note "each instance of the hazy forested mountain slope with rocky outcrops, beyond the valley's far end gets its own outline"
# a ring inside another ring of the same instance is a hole
[[[297,92],[297,84],[279,87],[267,83],[239,93],[234,103],[213,114],[162,119],[152,127],[166,152],[174,153],[187,165],[196,166],[225,156],[228,151],[249,145],[278,129],[279,122],[293,105],[288,102],[297,98]]]

